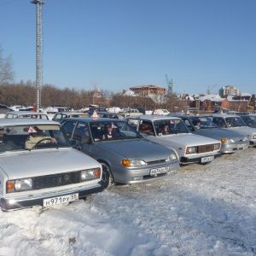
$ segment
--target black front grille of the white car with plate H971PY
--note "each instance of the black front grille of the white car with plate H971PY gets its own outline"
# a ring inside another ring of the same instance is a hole
[[[81,172],[65,172],[35,177],[34,189],[46,189],[79,183]]]

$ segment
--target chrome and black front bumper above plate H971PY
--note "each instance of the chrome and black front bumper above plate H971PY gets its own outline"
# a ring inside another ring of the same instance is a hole
[[[103,190],[102,183],[97,183],[95,185],[92,185],[90,187],[86,187],[84,189],[69,189],[68,191],[61,191],[56,193],[50,193],[47,195],[36,195],[36,196],[29,196],[29,197],[23,197],[23,198],[5,198],[2,197],[0,199],[0,207],[3,211],[11,211],[16,210],[20,208],[26,208],[26,207],[35,207],[35,206],[44,206],[44,200],[53,198],[53,197],[60,197],[65,195],[71,195],[75,193],[79,193],[79,199],[83,198],[87,195],[96,194],[98,192],[102,192]]]

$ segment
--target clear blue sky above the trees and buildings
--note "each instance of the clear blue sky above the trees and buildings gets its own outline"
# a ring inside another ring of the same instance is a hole
[[[44,84],[119,92],[136,85],[256,93],[255,0],[45,0]],[[36,80],[36,5],[0,0],[15,82]]]

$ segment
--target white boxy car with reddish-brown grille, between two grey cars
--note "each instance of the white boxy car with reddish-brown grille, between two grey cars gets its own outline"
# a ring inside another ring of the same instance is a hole
[[[149,141],[174,148],[181,165],[212,162],[219,153],[220,142],[192,134],[182,119],[171,116],[140,115],[125,120]]]

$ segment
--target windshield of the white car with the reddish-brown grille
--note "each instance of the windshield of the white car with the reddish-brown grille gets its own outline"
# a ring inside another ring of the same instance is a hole
[[[154,121],[154,130],[158,136],[190,132],[182,119],[156,120]]]

